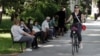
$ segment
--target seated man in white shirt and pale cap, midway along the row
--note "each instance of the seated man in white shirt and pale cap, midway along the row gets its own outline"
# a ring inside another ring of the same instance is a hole
[[[44,20],[42,23],[42,31],[44,32],[45,41],[48,41],[47,35],[49,32],[49,21],[50,21],[50,17],[46,17],[46,20]]]

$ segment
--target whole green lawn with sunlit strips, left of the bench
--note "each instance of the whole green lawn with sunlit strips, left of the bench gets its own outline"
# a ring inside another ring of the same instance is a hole
[[[3,15],[2,18],[0,24],[0,54],[20,53],[20,46],[18,44],[14,44],[12,48],[12,39],[9,33],[12,25],[10,17]]]

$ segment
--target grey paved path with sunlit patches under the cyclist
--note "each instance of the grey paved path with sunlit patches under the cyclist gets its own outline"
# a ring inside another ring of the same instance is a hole
[[[100,56],[100,21],[89,20],[87,30],[82,32],[83,49],[76,56]],[[32,52],[24,52],[19,56],[72,56],[70,44],[70,31],[63,37],[40,45],[40,49]]]

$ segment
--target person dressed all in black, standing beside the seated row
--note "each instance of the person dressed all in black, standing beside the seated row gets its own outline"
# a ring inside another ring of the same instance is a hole
[[[57,16],[59,17],[58,19],[58,31],[60,35],[64,34],[64,26],[65,26],[65,8],[62,7],[61,11],[57,12]]]

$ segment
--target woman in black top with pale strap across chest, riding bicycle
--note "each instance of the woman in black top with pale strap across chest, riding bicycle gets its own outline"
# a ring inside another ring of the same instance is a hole
[[[74,25],[78,28],[77,35],[78,35],[79,44],[82,41],[81,30],[82,30],[82,22],[84,20],[83,17],[84,17],[84,15],[81,13],[79,6],[75,5],[74,12],[71,14],[70,18],[67,20],[67,22],[69,22],[71,19],[73,19],[72,26]],[[71,31],[71,34],[72,34],[72,31]],[[72,35],[71,35],[71,37],[72,37]]]

